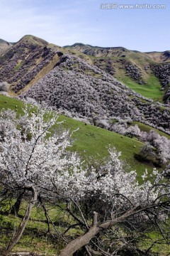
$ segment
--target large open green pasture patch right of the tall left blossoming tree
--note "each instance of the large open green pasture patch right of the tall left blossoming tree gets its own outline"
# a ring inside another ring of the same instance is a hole
[[[145,168],[151,169],[151,166],[141,164],[134,159],[134,154],[139,153],[140,148],[143,146],[142,142],[89,124],[85,125],[75,120],[73,122],[72,119],[66,118],[64,127],[73,126],[75,128],[79,127],[79,131],[73,136],[75,141],[72,150],[78,151],[81,156],[101,161],[101,159],[108,156],[107,148],[110,145],[122,152],[121,159],[129,164],[132,169],[136,169],[139,175],[143,173]]]

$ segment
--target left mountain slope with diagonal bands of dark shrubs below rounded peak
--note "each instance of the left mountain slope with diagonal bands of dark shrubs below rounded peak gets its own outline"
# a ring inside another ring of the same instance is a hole
[[[53,68],[53,66],[50,68],[47,66],[51,65],[53,59],[57,59],[58,56],[57,47],[48,46],[46,41],[35,36],[21,38],[0,56],[0,81],[5,80],[14,92],[18,92],[31,81],[40,79]],[[35,79],[41,70],[44,72]]]

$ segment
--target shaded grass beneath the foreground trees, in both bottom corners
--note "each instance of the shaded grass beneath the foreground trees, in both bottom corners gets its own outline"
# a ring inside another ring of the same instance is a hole
[[[60,205],[61,206],[61,205]],[[57,206],[46,206],[47,212],[50,215],[52,221],[55,222],[55,227],[60,233],[64,233],[67,229],[64,225],[65,222],[72,223],[72,219],[68,218],[66,212],[64,211],[64,206],[62,209]],[[25,213],[26,202],[22,203],[21,210],[19,211],[20,215]],[[57,213],[57,214],[56,214]],[[45,214],[42,211],[40,206],[33,208],[31,213],[30,220],[26,226],[26,230],[23,233],[21,240],[14,247],[15,252],[34,252],[38,255],[46,256],[55,256],[57,252],[60,252],[63,247],[62,239],[56,238],[56,231],[54,230],[52,224],[50,223],[50,233],[47,234],[47,223],[45,221]],[[15,217],[13,215],[1,215],[0,214],[0,248],[8,244],[8,241],[11,238],[13,230],[21,222],[21,218]],[[67,235],[81,235],[81,230],[78,228],[72,228],[67,232]],[[158,240],[158,243],[155,243],[152,247],[152,252],[159,252],[159,255],[166,256],[169,252],[169,245],[164,241],[159,242],[162,239],[159,233],[152,230],[150,233],[146,233],[143,238],[138,241],[140,248],[146,250],[149,248],[155,240]],[[52,238],[53,236],[53,238]]]

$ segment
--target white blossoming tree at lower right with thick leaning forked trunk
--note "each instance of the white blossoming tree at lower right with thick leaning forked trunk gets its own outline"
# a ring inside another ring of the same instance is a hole
[[[166,240],[159,223],[168,218],[170,210],[169,179],[165,180],[164,172],[154,169],[152,174],[147,174],[146,170],[140,185],[136,171],[123,170],[123,163],[118,159],[120,153],[114,149],[109,149],[109,153],[111,159],[107,164],[99,166],[98,171],[91,168],[84,178],[78,177],[79,182],[74,180],[65,195],[72,197],[67,211],[84,234],[69,242],[60,256],[73,255],[81,247],[89,255],[116,255],[120,247],[128,247],[130,239],[135,240],[135,237],[128,240],[126,232],[142,230],[144,234],[147,225],[157,227]]]

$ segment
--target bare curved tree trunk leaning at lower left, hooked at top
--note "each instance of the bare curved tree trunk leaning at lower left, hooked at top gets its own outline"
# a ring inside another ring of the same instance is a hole
[[[33,197],[31,198],[30,203],[28,203],[26,213],[18,227],[18,230],[16,230],[16,233],[13,235],[13,238],[11,238],[11,241],[9,242],[8,247],[6,248],[7,252],[10,252],[13,249],[13,247],[16,245],[18,240],[20,240],[21,236],[23,235],[23,231],[25,230],[28,220],[30,218],[30,213],[32,211],[32,208],[37,202],[38,193],[35,190],[34,186],[25,186],[24,188],[28,191],[32,191]]]

